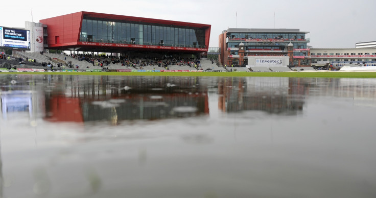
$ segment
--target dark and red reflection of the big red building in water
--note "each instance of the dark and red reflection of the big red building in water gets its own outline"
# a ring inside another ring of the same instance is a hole
[[[199,78],[67,77],[65,90],[46,93],[46,120],[101,121],[166,119],[209,113]]]

